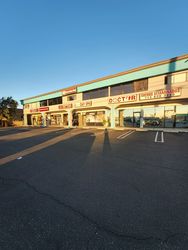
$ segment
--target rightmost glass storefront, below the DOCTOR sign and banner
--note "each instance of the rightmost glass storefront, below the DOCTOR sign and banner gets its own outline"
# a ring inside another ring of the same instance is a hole
[[[120,109],[119,125],[121,127],[143,125],[145,128],[188,128],[188,104],[160,104]]]

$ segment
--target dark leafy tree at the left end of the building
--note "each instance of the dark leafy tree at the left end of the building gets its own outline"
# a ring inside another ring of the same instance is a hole
[[[0,99],[0,119],[6,118],[11,124],[16,116],[18,102],[12,96]]]

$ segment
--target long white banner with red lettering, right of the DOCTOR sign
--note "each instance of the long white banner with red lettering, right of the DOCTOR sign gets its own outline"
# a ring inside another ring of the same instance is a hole
[[[181,95],[181,88],[160,89],[140,94],[140,100],[159,99]]]

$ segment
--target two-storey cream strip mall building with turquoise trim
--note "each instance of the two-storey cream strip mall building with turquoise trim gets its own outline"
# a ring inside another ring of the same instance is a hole
[[[22,100],[24,124],[188,127],[188,54]]]

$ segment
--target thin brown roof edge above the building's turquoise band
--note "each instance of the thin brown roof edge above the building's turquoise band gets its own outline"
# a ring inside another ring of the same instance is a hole
[[[101,78],[97,78],[95,80],[87,81],[87,82],[84,82],[84,83],[71,85],[71,86],[66,87],[66,88],[58,89],[58,90],[51,91],[51,92],[46,92],[46,93],[43,93],[43,94],[40,94],[40,95],[37,95],[37,96],[24,98],[24,99],[22,99],[22,101],[37,98],[37,97],[41,97],[41,96],[44,96],[44,95],[53,94],[53,93],[60,92],[60,91],[63,91],[63,90],[68,90],[68,89],[70,89],[72,87],[77,88],[77,87],[85,86],[85,85],[88,85],[88,84],[91,84],[91,83],[94,83],[94,82],[99,82],[99,81],[115,78],[117,76],[126,75],[126,74],[136,72],[136,71],[139,71],[139,70],[152,68],[152,67],[163,65],[163,64],[166,64],[166,63],[172,63],[172,62],[179,61],[179,60],[186,59],[186,58],[188,58],[188,54],[184,54],[184,55],[181,55],[181,56],[178,56],[178,57],[173,57],[173,58],[167,59],[167,60],[162,60],[162,61],[159,61],[159,62],[156,62],[156,63],[147,64],[147,65],[144,65],[144,66],[139,66],[139,67],[136,67],[136,68],[133,68],[133,69],[130,69],[130,70],[119,72],[117,74],[112,74],[112,75],[104,76],[104,77],[101,77]]]

